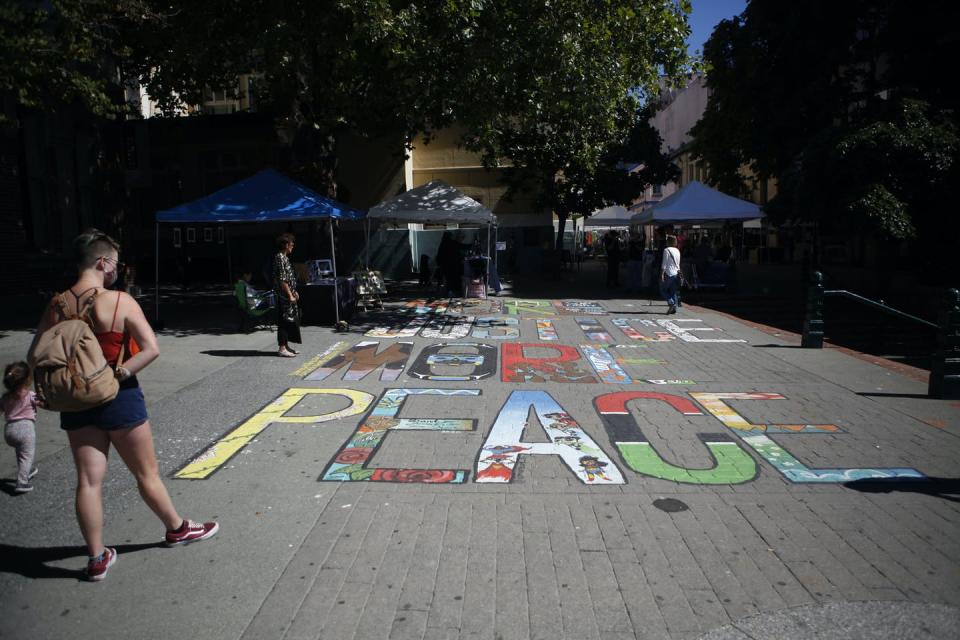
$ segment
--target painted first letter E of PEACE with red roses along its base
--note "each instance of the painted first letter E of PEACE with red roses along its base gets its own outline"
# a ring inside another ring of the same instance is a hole
[[[389,431],[473,431],[477,421],[472,419],[398,418],[400,409],[409,396],[479,396],[479,389],[387,389],[370,415],[340,448],[327,465],[320,480],[326,482],[404,482],[421,484],[461,484],[469,471],[464,469],[403,469],[367,465],[383,444]]]

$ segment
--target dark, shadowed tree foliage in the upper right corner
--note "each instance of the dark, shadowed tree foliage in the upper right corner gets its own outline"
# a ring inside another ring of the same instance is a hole
[[[777,178],[774,217],[892,238],[930,233],[960,168],[955,3],[752,0],[704,47],[692,130],[710,180]],[[743,172],[742,168],[749,168]]]

